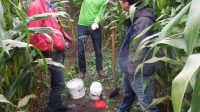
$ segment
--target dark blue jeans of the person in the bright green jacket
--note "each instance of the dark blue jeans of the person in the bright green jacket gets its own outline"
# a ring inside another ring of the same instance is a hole
[[[85,61],[85,38],[81,38],[84,36],[91,36],[95,56],[96,56],[96,70],[102,69],[102,53],[101,53],[101,30],[96,29],[92,30],[88,26],[78,25],[78,63],[79,70],[81,72],[86,72],[86,61]]]

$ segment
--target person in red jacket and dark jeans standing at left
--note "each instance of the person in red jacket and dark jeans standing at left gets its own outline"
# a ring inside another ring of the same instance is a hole
[[[35,0],[28,8],[28,16],[33,16],[43,13],[54,13],[56,7],[52,4],[53,0]],[[30,36],[30,43],[39,48],[45,58],[52,58],[55,62],[64,64],[66,45],[71,44],[71,38],[64,32],[59,20],[51,17],[43,20],[35,20],[29,23],[31,27],[51,27],[58,33],[49,34],[51,40],[44,34],[34,33]],[[64,69],[50,65],[49,71],[51,74],[51,91],[49,95],[48,112],[56,112],[59,110],[69,110],[76,107],[76,105],[66,105],[61,100],[61,92],[65,88]]]

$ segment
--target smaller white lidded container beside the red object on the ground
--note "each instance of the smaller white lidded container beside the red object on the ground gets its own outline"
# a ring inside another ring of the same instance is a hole
[[[93,82],[90,86],[90,98],[92,100],[99,100],[102,94],[102,86],[100,82]]]

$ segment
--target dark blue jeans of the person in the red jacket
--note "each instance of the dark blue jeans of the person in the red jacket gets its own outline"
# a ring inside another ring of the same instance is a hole
[[[55,62],[64,64],[64,52],[43,53],[45,58],[52,58]],[[62,106],[61,92],[65,88],[64,69],[49,65],[51,74],[51,91],[49,95],[48,112],[55,112]]]

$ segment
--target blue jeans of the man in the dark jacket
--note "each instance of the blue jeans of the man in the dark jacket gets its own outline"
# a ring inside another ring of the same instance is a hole
[[[151,104],[154,95],[152,90],[152,83],[150,82],[152,76],[138,75],[134,82],[130,78],[130,74],[124,74],[123,80],[123,98],[119,106],[119,112],[130,112],[133,102],[138,99],[140,107],[145,110]],[[150,82],[146,88],[144,85]],[[152,106],[146,110],[147,112],[158,112],[156,106]]]

